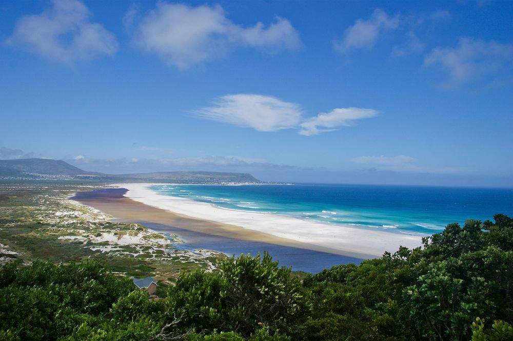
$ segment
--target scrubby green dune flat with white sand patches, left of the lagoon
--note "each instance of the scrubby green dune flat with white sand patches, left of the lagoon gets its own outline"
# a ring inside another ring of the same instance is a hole
[[[225,255],[181,248],[162,235],[68,199],[76,191],[103,188],[96,182],[4,182],[0,185],[0,264],[38,258],[54,263],[98,260],[117,274],[153,276],[160,286],[181,271],[215,271]]]

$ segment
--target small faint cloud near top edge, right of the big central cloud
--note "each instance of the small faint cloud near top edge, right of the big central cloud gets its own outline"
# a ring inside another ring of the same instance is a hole
[[[336,50],[349,52],[353,49],[371,49],[378,41],[384,30],[397,29],[399,16],[390,17],[385,11],[376,9],[367,20],[358,19],[354,25],[349,26],[344,33],[342,41],[334,43]]]

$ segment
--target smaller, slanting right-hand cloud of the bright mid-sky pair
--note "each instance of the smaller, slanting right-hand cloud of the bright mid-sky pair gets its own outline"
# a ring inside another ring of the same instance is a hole
[[[301,124],[300,134],[310,136],[322,132],[336,130],[339,127],[350,126],[357,119],[376,116],[378,112],[373,109],[338,108],[328,113],[320,113],[307,119]]]

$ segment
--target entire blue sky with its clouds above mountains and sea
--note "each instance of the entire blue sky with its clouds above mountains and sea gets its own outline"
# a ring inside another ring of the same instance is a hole
[[[0,158],[513,186],[513,2],[0,3]]]

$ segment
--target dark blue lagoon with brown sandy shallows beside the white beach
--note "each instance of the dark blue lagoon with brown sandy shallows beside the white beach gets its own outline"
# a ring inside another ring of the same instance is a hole
[[[181,248],[210,249],[229,256],[268,251],[280,265],[294,270],[318,272],[333,265],[360,263],[373,256],[346,253],[298,243],[273,235],[242,229],[238,226],[181,216],[167,210],[147,206],[124,197],[126,189],[109,188],[78,192],[73,200],[94,207],[117,220],[137,222],[160,233],[176,234],[185,244]]]

